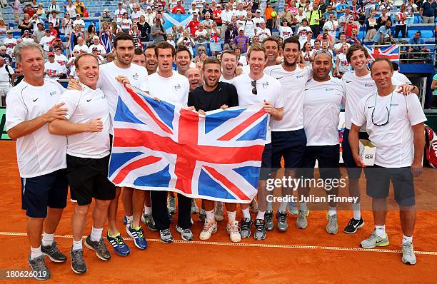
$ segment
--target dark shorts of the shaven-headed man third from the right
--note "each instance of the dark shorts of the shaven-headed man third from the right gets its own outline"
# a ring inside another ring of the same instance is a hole
[[[314,178],[316,160],[321,178],[340,178],[340,145],[306,146],[298,177]]]

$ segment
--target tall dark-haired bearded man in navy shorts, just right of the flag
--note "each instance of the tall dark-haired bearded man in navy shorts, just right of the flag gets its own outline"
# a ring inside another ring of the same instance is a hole
[[[270,44],[272,43],[272,44]],[[265,41],[265,44],[273,47],[275,41]],[[273,150],[272,168],[281,168],[281,158],[284,160],[284,177],[295,178],[296,168],[301,166],[303,153],[306,147],[306,136],[303,131],[303,90],[306,82],[312,77],[311,67],[301,69],[297,65],[299,59],[300,43],[297,39],[288,38],[283,41],[283,64],[268,66],[264,73],[276,78],[281,83],[281,95],[283,96],[284,111],[281,121],[273,121],[271,129],[271,145]],[[268,55],[267,55],[268,58]],[[273,174],[273,176],[276,176]],[[282,188],[282,196],[292,196],[293,188]],[[286,231],[287,201],[282,201],[276,219],[278,230]],[[288,203],[288,211],[297,213],[296,204]],[[303,213],[308,213],[307,210]],[[267,203],[265,215],[266,230],[273,230],[273,207]]]

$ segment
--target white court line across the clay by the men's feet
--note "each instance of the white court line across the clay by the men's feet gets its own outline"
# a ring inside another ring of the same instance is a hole
[[[0,232],[0,235],[20,235],[26,236],[26,233],[14,233],[14,232]],[[55,235],[57,238],[73,238],[72,235]],[[84,237],[86,238],[86,237]],[[132,238],[123,238],[124,240],[132,240]],[[161,240],[156,238],[148,238],[148,242],[161,243]],[[376,250],[368,250],[365,248],[346,248],[336,246],[321,246],[321,245],[273,245],[268,243],[226,243],[226,242],[208,242],[191,240],[186,242],[184,240],[174,240],[174,243],[184,243],[186,245],[228,245],[228,246],[242,246],[242,247],[258,247],[258,248],[294,248],[294,249],[306,249],[306,250],[348,250],[348,251],[365,251],[373,253],[401,253],[401,250],[387,250],[378,248]],[[437,255],[437,251],[420,251],[415,250],[416,255]]]

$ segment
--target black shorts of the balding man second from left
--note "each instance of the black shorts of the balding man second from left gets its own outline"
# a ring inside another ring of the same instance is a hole
[[[115,198],[114,183],[108,179],[109,155],[104,158],[79,158],[67,155],[67,178],[71,200],[80,206],[93,198],[107,201]]]

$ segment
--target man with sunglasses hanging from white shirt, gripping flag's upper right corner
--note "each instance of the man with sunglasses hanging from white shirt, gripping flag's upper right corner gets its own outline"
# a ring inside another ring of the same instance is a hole
[[[280,121],[283,116],[283,98],[281,95],[281,83],[263,73],[267,64],[266,49],[253,44],[247,52],[249,73],[241,74],[233,79],[233,86],[238,92],[238,103],[245,106],[253,103],[263,103],[266,113],[271,115],[274,121]],[[266,213],[267,189],[266,181],[271,176],[271,128],[267,127],[266,146],[264,148],[261,171],[258,182],[258,215],[256,216],[254,233],[255,240],[266,238],[264,215]],[[241,238],[251,235],[252,219],[249,213],[249,205],[241,204],[243,219],[241,220]]]

